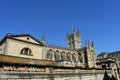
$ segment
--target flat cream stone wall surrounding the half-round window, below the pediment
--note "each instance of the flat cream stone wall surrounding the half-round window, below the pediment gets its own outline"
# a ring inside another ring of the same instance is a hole
[[[42,59],[42,47],[38,45],[33,45],[30,43],[20,42],[20,41],[12,40],[12,39],[8,39],[7,43],[8,43],[7,49],[6,49],[7,55],[24,57],[24,58]],[[20,54],[21,50],[25,47],[31,49],[32,56]]]

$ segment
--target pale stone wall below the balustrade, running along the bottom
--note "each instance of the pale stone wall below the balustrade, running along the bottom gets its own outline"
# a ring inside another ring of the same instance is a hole
[[[4,72],[0,73],[0,80],[103,80],[105,71],[91,71],[88,73]],[[110,74],[111,71],[107,73]]]

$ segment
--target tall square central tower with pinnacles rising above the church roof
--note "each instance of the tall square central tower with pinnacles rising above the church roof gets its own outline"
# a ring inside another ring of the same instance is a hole
[[[67,33],[67,42],[68,48],[70,49],[79,49],[81,48],[81,39],[80,39],[80,31],[75,31],[75,28],[72,30],[72,34]]]

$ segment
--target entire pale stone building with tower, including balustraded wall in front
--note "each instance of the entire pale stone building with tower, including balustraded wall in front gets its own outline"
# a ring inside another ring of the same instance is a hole
[[[94,43],[81,45],[80,31],[67,33],[68,47],[48,45],[30,34],[7,34],[0,41],[0,79],[102,80]],[[106,72],[111,75],[112,70]]]

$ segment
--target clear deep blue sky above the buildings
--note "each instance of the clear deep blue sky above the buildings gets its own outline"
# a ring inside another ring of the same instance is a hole
[[[83,47],[89,40],[97,54],[120,50],[120,0],[0,0],[0,39],[28,33],[66,47],[72,25]]]

